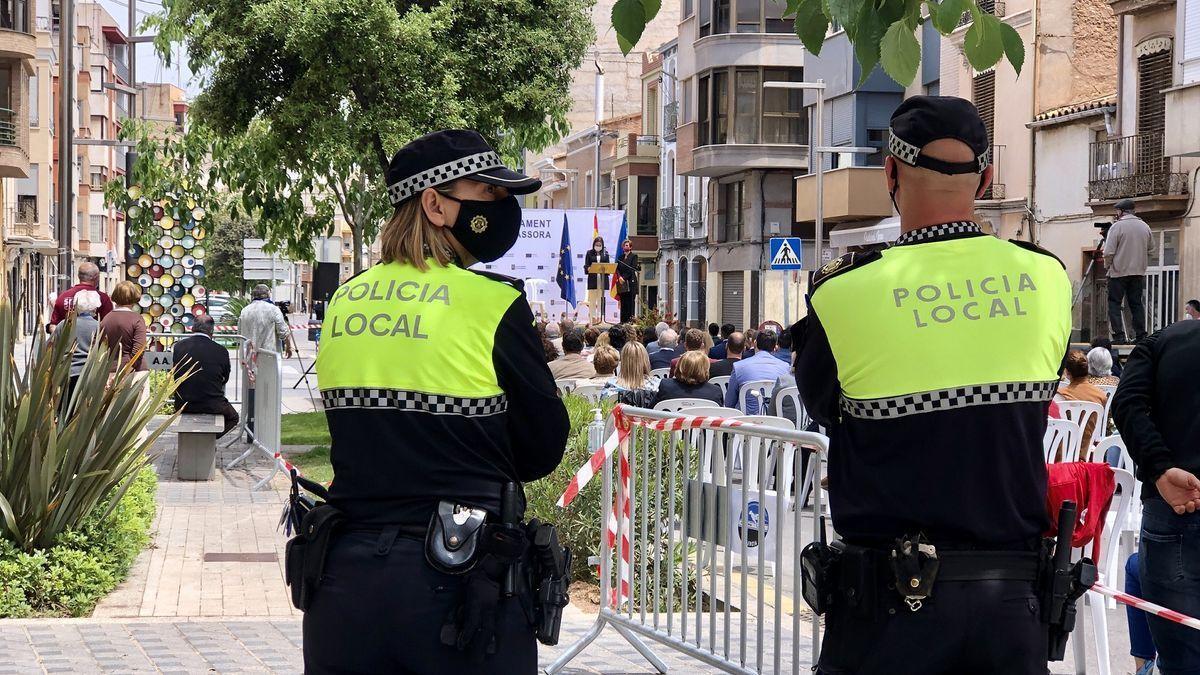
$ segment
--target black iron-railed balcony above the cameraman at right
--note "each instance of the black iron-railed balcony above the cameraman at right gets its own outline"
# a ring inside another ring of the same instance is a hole
[[[1186,202],[1188,175],[1180,171],[1178,157],[1164,155],[1163,141],[1163,132],[1156,131],[1092,143],[1088,202],[1093,207],[1126,198]]]

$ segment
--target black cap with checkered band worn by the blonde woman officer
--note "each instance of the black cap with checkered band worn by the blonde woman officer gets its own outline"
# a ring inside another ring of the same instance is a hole
[[[478,131],[448,129],[427,133],[396,151],[388,165],[388,197],[398,207],[427,187],[469,178],[528,195],[541,180],[505,168]]]

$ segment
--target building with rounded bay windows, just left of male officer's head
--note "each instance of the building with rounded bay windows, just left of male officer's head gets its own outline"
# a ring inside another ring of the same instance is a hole
[[[670,276],[676,298],[688,289],[690,323],[784,318],[784,286],[767,283],[761,270],[769,238],[793,232],[792,184],[809,167],[799,92],[762,86],[804,79],[808,55],[784,11],[773,0],[682,2],[673,174],[686,180],[674,204],[689,214],[688,241],[700,210],[707,250],[696,251],[706,256],[700,259],[680,255]]]

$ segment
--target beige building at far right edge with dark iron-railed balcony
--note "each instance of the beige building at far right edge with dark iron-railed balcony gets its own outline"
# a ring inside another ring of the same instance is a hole
[[[1111,219],[1132,198],[1154,232],[1146,271],[1146,328],[1182,317],[1200,297],[1200,1],[1115,0],[1115,137],[1087,155],[1088,205]]]

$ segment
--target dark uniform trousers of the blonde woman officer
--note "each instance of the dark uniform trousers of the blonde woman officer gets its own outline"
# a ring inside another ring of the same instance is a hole
[[[535,673],[538,644],[515,598],[500,605],[497,652],[485,661],[442,644],[461,581],[425,562],[424,542],[384,542],[373,532],[335,536],[304,615],[305,673]]]

